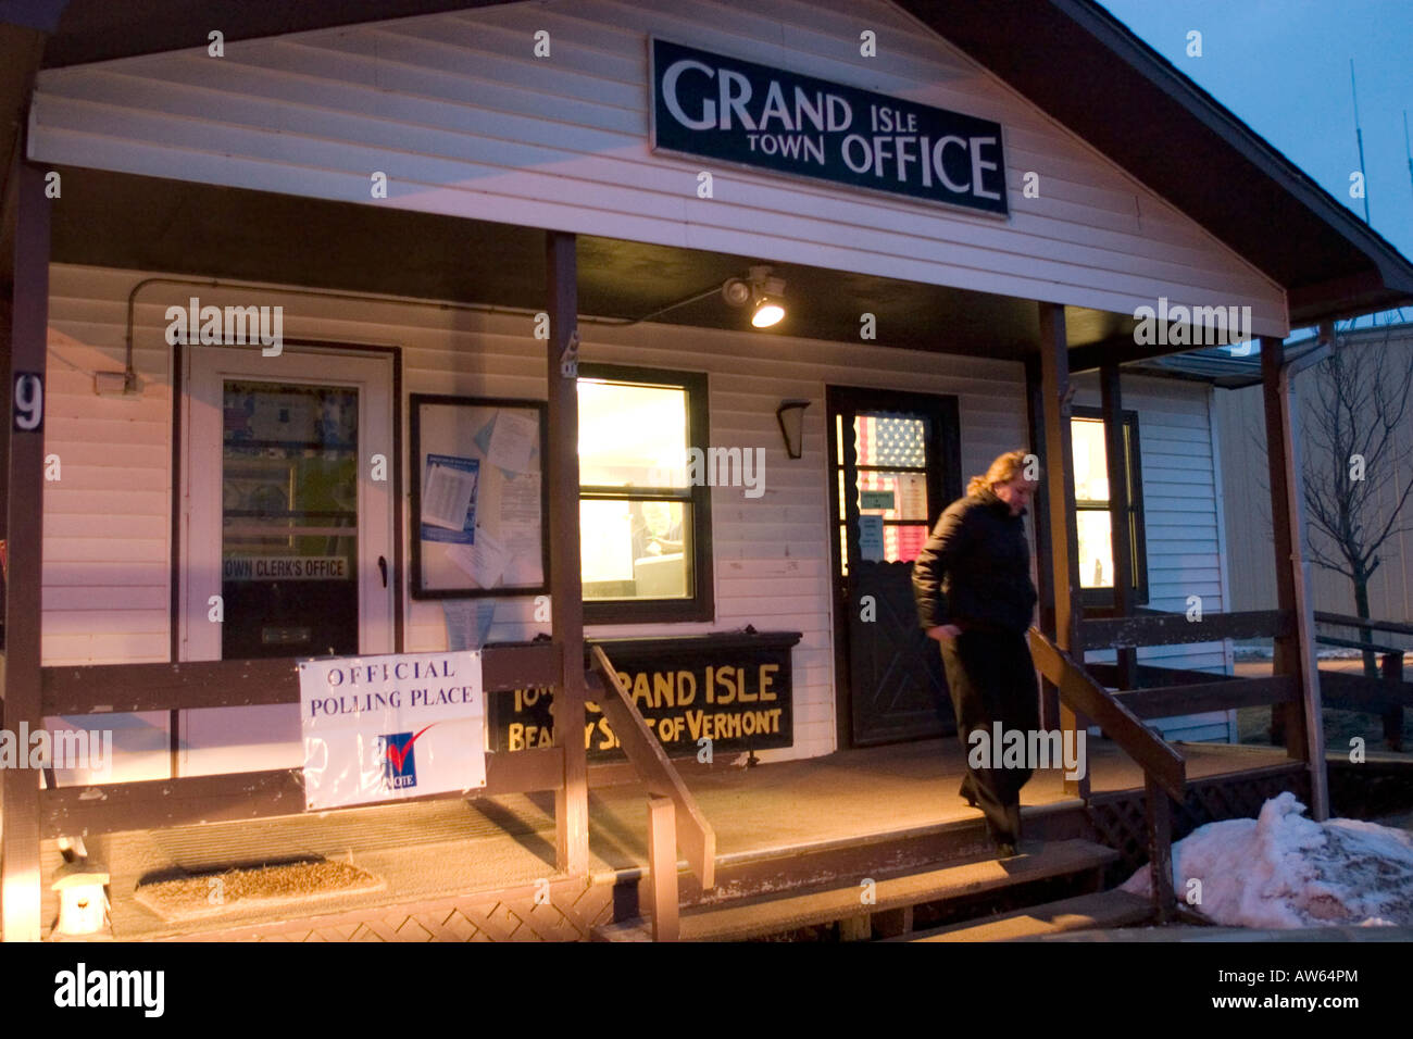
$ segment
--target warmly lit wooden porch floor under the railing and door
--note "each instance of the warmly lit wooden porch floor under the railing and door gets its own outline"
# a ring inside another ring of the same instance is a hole
[[[1238,804],[1259,807],[1273,789],[1300,786],[1276,748],[1186,744],[1180,749],[1191,789],[1180,810],[1180,834]],[[1126,854],[1108,868],[1113,882],[1122,882],[1145,857],[1142,834],[1133,828],[1143,777],[1099,738],[1091,741],[1088,768],[1088,809],[1064,792],[1060,769],[1031,779],[1022,794],[1027,841],[1115,841]],[[831,882],[856,885],[862,878],[883,881],[940,859],[976,867],[991,861],[979,813],[957,796],[965,765],[954,738],[750,769],[681,769],[716,833],[718,869],[709,892],[682,874],[684,908]],[[171,806],[168,826],[95,834],[88,850],[112,871],[116,940],[582,940],[649,902],[643,797],[637,783],[591,789],[589,867],[582,878],[555,869],[550,792],[225,823],[181,820]],[[140,884],[182,876],[205,884],[223,871],[277,861],[348,862],[382,886],[223,908],[188,899],[165,915],[136,895]],[[58,850],[48,845],[45,868],[59,864]],[[1019,864],[1012,869],[1017,885],[1026,881]],[[1047,876],[1053,869],[1039,869],[1031,886],[1053,884],[1056,878]],[[968,910],[982,912],[988,898],[1000,906],[1006,892],[978,882]],[[941,909],[934,906],[931,916],[918,910],[916,929],[942,919]],[[47,893],[45,919],[55,912],[55,896]]]

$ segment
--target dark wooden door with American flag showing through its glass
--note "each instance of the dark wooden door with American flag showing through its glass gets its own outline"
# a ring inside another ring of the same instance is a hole
[[[955,732],[913,560],[961,496],[957,397],[831,386],[827,399],[839,745]]]

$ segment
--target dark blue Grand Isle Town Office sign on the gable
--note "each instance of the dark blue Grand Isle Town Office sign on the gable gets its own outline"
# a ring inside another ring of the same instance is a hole
[[[653,40],[653,148],[1005,215],[1000,124]]]

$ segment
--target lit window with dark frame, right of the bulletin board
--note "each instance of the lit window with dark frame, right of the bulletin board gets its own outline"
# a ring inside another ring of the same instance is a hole
[[[706,442],[705,375],[579,365],[586,622],[714,619]]]

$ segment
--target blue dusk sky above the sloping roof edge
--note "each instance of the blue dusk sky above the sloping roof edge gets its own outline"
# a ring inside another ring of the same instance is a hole
[[[1349,196],[1359,168],[1354,58],[1369,222],[1413,257],[1403,139],[1403,112],[1413,112],[1413,0],[1101,3],[1362,219],[1364,201]],[[1187,55],[1191,30],[1202,34],[1200,58]]]

